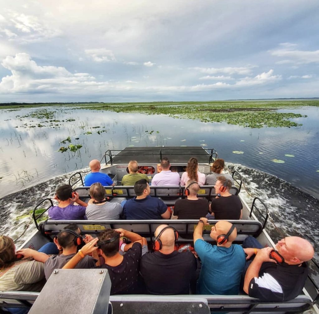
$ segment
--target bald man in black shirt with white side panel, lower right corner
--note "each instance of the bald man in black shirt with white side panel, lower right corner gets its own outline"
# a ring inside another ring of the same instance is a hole
[[[249,248],[247,248],[247,246]],[[265,302],[288,301],[302,294],[308,276],[308,263],[314,256],[309,241],[300,237],[286,237],[275,246],[278,261],[270,258],[273,248],[263,248],[253,237],[243,242],[247,259],[256,254],[249,265],[244,291]],[[282,260],[280,260],[282,258]]]

